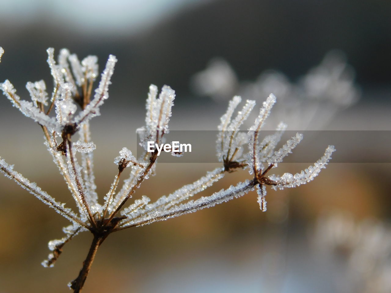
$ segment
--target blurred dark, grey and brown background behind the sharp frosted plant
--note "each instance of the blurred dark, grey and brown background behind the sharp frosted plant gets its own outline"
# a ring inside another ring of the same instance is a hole
[[[0,7],[0,81],[9,79],[22,98],[29,99],[27,81],[44,79],[50,92],[48,47],[79,59],[97,55],[100,71],[109,54],[117,56],[110,98],[91,121],[101,198],[116,173],[113,158],[124,146],[136,149],[151,83],[176,90],[176,130],[214,130],[231,96],[259,106],[271,91],[278,102],[268,129],[283,119],[292,130],[390,130],[389,1],[0,0]],[[352,152],[379,155],[371,141]],[[5,97],[0,154],[72,206],[40,127]],[[275,170],[296,173],[308,163]],[[167,195],[216,166],[158,164],[135,198]],[[265,213],[252,192],[115,233],[98,250],[83,292],[390,292],[390,175],[379,160],[331,163],[309,184],[268,190]],[[228,174],[201,195],[249,178],[246,170]],[[90,235],[68,243],[54,268],[40,265],[65,225],[0,177],[0,292],[69,292]]]

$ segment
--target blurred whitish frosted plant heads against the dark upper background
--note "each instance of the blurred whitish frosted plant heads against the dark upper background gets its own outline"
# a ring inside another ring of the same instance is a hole
[[[297,82],[291,82],[275,70],[262,72],[252,82],[239,81],[227,61],[215,58],[205,70],[194,75],[192,84],[199,94],[220,101],[235,94],[256,98],[274,93],[280,102],[273,110],[274,121],[283,117],[292,130],[320,129],[360,96],[360,89],[354,83],[353,68],[337,50],[328,52],[319,65]]]

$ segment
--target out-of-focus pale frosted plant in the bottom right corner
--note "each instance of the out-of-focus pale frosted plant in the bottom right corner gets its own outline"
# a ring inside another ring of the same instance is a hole
[[[339,292],[391,292],[391,229],[386,223],[334,211],[317,220],[314,248],[333,268]],[[341,258],[345,261],[339,263]],[[334,272],[335,272],[334,271]]]

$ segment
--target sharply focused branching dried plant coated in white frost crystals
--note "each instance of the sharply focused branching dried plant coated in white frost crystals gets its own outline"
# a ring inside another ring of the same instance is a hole
[[[48,259],[43,261],[44,266],[52,267],[61,254],[63,246],[80,232],[90,231],[93,234],[93,241],[83,267],[78,277],[69,284],[74,292],[79,292],[83,288],[97,248],[109,234],[212,207],[254,189],[258,193],[260,208],[266,211],[266,185],[282,189],[309,182],[322,168],[325,168],[334,152],[334,146],[328,146],[321,159],[301,173],[267,176],[272,168],[291,153],[301,141],[302,135],[296,134],[281,148],[276,149],[286,129],[286,125],[280,123],[273,135],[260,139],[260,130],[276,102],[273,94],[263,102],[259,115],[253,126],[248,129],[248,133],[239,132],[240,126],[255,107],[255,101],[247,100],[235,116],[235,109],[241,102],[241,98],[235,96],[218,126],[220,132],[217,138],[217,156],[222,165],[207,172],[204,177],[192,184],[187,184],[168,196],[163,195],[156,202],[150,203],[148,197],[142,196],[129,205],[127,202],[135,195],[138,187],[148,179],[149,175],[155,173],[158,150],[149,152],[146,142],[160,144],[163,142],[164,134],[169,132],[168,123],[175,92],[169,86],[163,86],[158,96],[158,88],[151,85],[146,104],[145,125],[138,129],[140,145],[145,152],[136,158],[126,147],[120,150],[119,156],[114,159],[118,168],[117,175],[104,197],[104,202],[99,202],[93,175],[93,150],[96,147],[90,139],[89,123],[91,118],[99,115],[100,106],[109,96],[108,88],[117,59],[114,55],[109,55],[99,86],[92,95],[92,85],[98,75],[97,57],[88,56],[80,62],[75,54],[71,55],[67,49],[62,49],[56,63],[54,49],[49,48],[47,52],[47,61],[54,80],[54,89],[50,96],[43,80],[27,83],[26,87],[32,102],[22,100],[16,95],[16,90],[8,80],[5,80],[0,88],[14,107],[38,122],[43,129],[48,152],[63,175],[78,211],[72,211],[65,207],[65,204],[57,202],[35,182],[30,182],[22,174],[14,171],[14,166],[8,164],[2,157],[0,157],[0,170],[6,177],[16,181],[72,223],[63,229],[65,233],[63,238],[48,243],[51,253]],[[53,108],[55,117],[50,116]],[[79,134],[79,139],[74,142],[76,133]],[[80,153],[81,163],[77,159],[77,152]],[[173,155],[179,154],[173,152]],[[126,168],[130,169],[130,175],[117,192],[120,176]],[[212,186],[226,173],[231,173],[238,168],[247,168],[253,178],[222,189],[208,197],[183,203]]]

